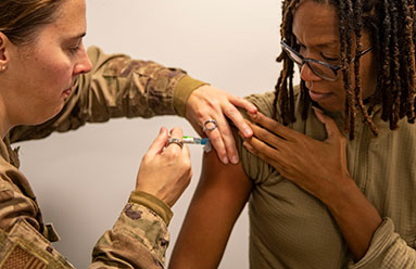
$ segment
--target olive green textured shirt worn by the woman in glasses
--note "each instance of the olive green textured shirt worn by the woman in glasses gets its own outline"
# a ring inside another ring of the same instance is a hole
[[[289,127],[325,140],[326,129],[312,108],[302,120],[299,95],[297,121]],[[248,100],[275,117],[274,93]],[[377,138],[357,115],[355,139],[346,145],[351,177],[383,218],[358,262],[353,261],[325,204],[251,155],[239,140],[244,171],[254,183],[249,202],[251,268],[416,268],[416,125],[403,119],[392,131],[380,114],[376,107],[373,120],[379,129]],[[279,107],[277,115],[282,121]],[[342,116],[330,116],[342,130]]]

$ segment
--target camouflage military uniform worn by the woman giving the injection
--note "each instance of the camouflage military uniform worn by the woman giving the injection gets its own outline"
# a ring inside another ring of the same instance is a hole
[[[45,225],[28,180],[18,170],[16,141],[74,130],[112,117],[185,115],[191,91],[203,82],[180,69],[90,48],[92,71],[77,79],[63,111],[36,127],[16,127],[0,140],[0,268],[74,268],[50,242],[59,240]],[[172,212],[156,197],[133,192],[114,227],[97,242],[90,268],[162,268]]]

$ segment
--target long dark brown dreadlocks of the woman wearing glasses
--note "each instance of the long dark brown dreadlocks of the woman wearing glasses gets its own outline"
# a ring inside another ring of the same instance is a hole
[[[303,0],[282,1],[281,38],[292,48],[299,49],[292,33],[293,16],[298,4]],[[382,107],[381,119],[389,121],[390,129],[398,128],[399,120],[407,117],[408,123],[416,118],[416,0],[313,0],[317,3],[331,4],[338,11],[339,35],[341,40],[340,57],[342,60],[343,85],[345,89],[345,123],[344,130],[350,139],[354,139],[357,111],[363,115],[373,133],[378,129],[371,120],[375,105]],[[362,31],[367,30],[371,38],[373,51],[377,61],[376,92],[368,99],[368,106],[362,97],[360,76]],[[355,36],[355,43],[353,35]],[[354,60],[353,60],[354,59]],[[283,124],[295,121],[293,73],[294,64],[281,52],[277,62],[283,68],[275,86],[274,106],[281,106]],[[353,62],[353,68],[350,63]],[[351,84],[354,75],[354,87]],[[305,82],[301,80],[302,118],[306,119],[311,100]]]

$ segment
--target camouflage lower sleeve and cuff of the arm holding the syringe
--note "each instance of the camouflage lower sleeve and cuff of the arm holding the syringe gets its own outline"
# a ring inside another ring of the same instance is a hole
[[[171,217],[162,201],[133,192],[114,227],[97,242],[89,268],[163,268]]]

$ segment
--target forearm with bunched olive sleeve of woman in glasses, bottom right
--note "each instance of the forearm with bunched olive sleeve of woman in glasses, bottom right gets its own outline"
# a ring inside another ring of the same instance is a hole
[[[352,180],[328,207],[354,255],[350,269],[416,267],[415,249],[394,231],[391,219],[381,219]]]

